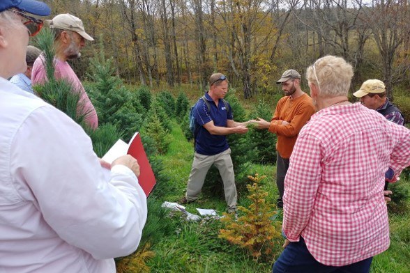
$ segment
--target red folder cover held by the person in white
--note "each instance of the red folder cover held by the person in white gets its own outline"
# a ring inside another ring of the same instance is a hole
[[[137,159],[139,164],[139,185],[141,185],[142,189],[144,189],[146,197],[149,196],[153,187],[155,186],[155,176],[151,168],[151,164],[149,164],[148,157],[146,157],[146,153],[144,150],[144,146],[142,145],[141,137],[138,132],[134,134],[130,142],[128,143],[128,155],[132,155],[135,159]]]

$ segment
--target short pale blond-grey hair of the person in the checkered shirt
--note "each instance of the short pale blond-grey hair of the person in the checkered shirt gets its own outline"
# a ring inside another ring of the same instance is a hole
[[[353,77],[353,67],[337,56],[324,56],[306,70],[309,83],[319,89],[321,97],[347,96]]]

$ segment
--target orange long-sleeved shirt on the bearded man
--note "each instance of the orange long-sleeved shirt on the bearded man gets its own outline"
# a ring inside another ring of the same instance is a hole
[[[291,96],[279,100],[268,130],[278,135],[276,150],[282,158],[290,158],[299,132],[315,111],[312,98],[306,93],[294,100]],[[282,125],[282,121],[289,124]]]

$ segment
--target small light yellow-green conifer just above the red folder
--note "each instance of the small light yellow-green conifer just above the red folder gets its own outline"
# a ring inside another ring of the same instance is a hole
[[[158,153],[161,155],[167,153],[169,143],[171,143],[171,140],[169,139],[169,131],[162,127],[157,113],[150,116],[150,121],[146,124],[145,132],[147,136],[153,139]]]

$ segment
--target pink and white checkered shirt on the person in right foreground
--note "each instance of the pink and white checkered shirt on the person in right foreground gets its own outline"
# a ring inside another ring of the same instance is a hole
[[[328,107],[299,133],[284,180],[283,230],[324,265],[388,249],[384,173],[410,164],[410,130],[360,103]]]

